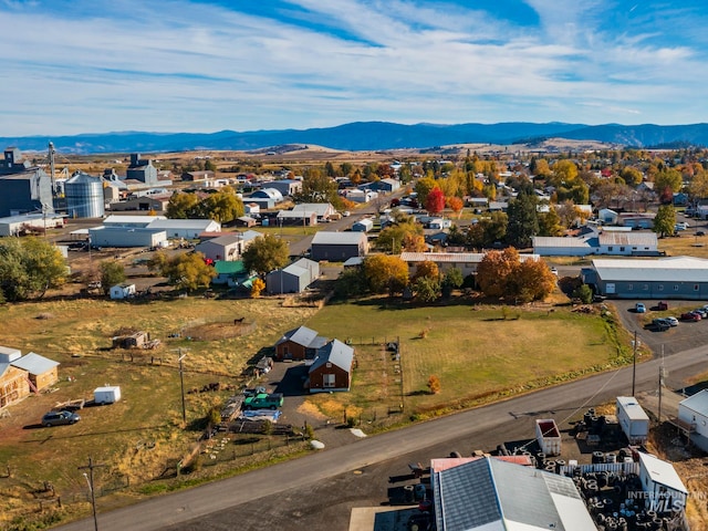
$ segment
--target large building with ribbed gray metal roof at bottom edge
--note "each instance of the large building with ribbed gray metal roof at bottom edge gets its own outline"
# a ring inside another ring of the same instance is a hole
[[[438,531],[596,531],[573,480],[491,457],[440,470],[430,482]]]

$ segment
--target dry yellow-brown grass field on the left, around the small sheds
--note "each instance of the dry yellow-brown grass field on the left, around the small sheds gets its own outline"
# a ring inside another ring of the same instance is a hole
[[[85,501],[77,467],[88,457],[106,464],[102,486],[121,487],[114,497],[134,496],[185,457],[201,434],[207,412],[220,406],[243,379],[241,372],[263,346],[306,320],[312,309],[280,306],[278,300],[214,301],[177,299],[145,304],[66,300],[0,308],[0,344],[37,352],[60,365],[50,393],[31,395],[0,418],[0,529],[4,519],[37,508],[38,486],[51,482],[66,506]],[[233,320],[244,317],[244,335]],[[155,350],[110,350],[122,330],[144,330],[162,340]],[[181,337],[170,339],[170,334]],[[190,335],[191,334],[191,335]],[[214,382],[219,393],[188,393],[187,426],[181,421],[178,350],[187,391]],[[119,385],[116,404],[85,407],[71,427],[41,428],[41,416],[56,403],[91,398],[93,389]],[[133,492],[133,494],[126,494]],[[105,503],[105,501],[102,501]],[[81,504],[79,506],[81,508]],[[85,510],[85,506],[83,506]]]

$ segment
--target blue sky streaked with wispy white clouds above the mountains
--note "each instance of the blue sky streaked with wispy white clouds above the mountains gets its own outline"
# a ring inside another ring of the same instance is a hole
[[[705,0],[0,0],[0,136],[708,122]]]

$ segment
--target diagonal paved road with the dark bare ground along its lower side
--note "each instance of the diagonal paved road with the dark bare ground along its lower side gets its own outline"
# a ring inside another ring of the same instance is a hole
[[[637,366],[636,391],[657,388],[662,360]],[[708,368],[708,346],[666,356],[667,385]],[[98,514],[102,531],[308,529],[346,530],[353,507],[386,499],[387,477],[407,464],[459,450],[493,449],[533,437],[533,420],[561,424],[575,413],[632,393],[632,367],[539,391],[409,428],[367,437],[304,458]],[[354,473],[355,472],[355,473]],[[92,519],[58,528],[91,531]]]

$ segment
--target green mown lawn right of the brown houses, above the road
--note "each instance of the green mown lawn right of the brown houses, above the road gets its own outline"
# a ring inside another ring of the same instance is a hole
[[[381,302],[386,300],[329,305],[306,323],[356,347],[352,392],[313,397],[325,413],[336,399],[378,417],[398,407],[402,394],[407,414],[469,406],[625,361],[617,355],[614,329],[600,315],[507,308],[504,320],[502,308],[383,308]],[[399,362],[383,347],[396,337]],[[430,375],[440,379],[439,394],[427,392]]]

